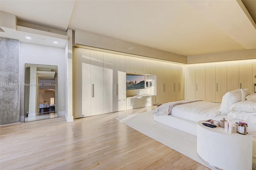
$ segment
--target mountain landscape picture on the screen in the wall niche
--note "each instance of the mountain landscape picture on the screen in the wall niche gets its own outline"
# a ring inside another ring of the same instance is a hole
[[[145,76],[144,75],[126,75],[126,90],[144,89]]]

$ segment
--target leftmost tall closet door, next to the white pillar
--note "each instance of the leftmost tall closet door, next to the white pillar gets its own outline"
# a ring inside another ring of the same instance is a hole
[[[90,51],[75,48],[75,119],[90,116]]]

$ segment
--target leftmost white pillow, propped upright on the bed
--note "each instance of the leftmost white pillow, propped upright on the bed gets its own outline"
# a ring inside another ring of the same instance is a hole
[[[227,92],[223,97],[220,105],[220,115],[228,115],[230,107],[234,103],[242,100],[242,92],[240,89]]]

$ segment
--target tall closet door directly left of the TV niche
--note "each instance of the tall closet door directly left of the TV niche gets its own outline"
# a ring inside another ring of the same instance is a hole
[[[126,72],[125,56],[115,55],[115,111],[126,110]]]

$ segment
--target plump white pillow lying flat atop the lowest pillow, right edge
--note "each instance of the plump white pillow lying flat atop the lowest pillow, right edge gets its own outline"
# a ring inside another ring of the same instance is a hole
[[[246,100],[246,101],[239,101],[237,103],[234,103],[230,107],[230,111],[255,113],[256,100]]]

